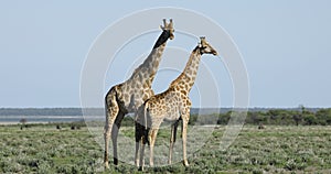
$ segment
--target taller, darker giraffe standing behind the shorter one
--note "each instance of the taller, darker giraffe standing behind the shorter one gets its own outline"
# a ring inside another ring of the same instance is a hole
[[[173,40],[173,22],[170,19],[168,23],[163,19],[161,35],[158,37],[154,46],[145,62],[135,69],[130,78],[121,84],[113,86],[105,97],[106,122],[104,128],[105,139],[105,156],[104,164],[109,168],[108,164],[108,142],[111,134],[114,164],[118,164],[117,157],[117,137],[121,120],[125,115],[135,112],[137,108],[143,104],[146,99],[154,95],[151,84],[161,61],[168,39]]]

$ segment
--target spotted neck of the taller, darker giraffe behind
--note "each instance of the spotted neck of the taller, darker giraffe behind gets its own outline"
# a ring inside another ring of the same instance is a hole
[[[163,30],[161,35],[158,37],[151,53],[143,61],[143,63],[135,70],[131,78],[140,75],[140,81],[146,83],[149,87],[158,72],[159,63],[161,61],[166,44],[168,39],[170,37],[170,32]]]

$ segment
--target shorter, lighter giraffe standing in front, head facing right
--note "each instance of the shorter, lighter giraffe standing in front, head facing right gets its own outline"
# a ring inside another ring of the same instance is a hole
[[[200,37],[200,40],[201,42],[191,53],[186,66],[180,76],[170,84],[166,91],[152,96],[139,108],[137,120],[140,122],[140,129],[136,130],[138,131],[136,134],[141,137],[139,170],[143,170],[146,142],[150,145],[150,166],[153,165],[153,146],[158,130],[163,120],[174,121],[171,126],[168,163],[171,164],[177,128],[179,121],[182,120],[183,164],[184,166],[189,166],[186,160],[186,129],[191,109],[189,93],[194,84],[202,54],[217,55],[217,52],[205,41],[205,37]],[[143,127],[143,124],[147,127]]]

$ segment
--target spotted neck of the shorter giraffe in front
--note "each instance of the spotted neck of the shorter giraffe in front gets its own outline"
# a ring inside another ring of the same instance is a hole
[[[195,77],[199,69],[199,64],[201,59],[201,52],[196,46],[190,55],[184,70],[181,75],[171,83],[171,87],[184,91],[186,95],[190,93],[192,86],[194,85]]]

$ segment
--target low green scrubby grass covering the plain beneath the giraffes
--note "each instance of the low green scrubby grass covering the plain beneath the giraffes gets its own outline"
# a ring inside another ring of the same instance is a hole
[[[145,173],[330,173],[331,127],[279,127],[258,130],[246,126],[234,143],[222,151],[220,142],[225,127],[217,127],[209,139],[197,129],[189,128],[189,163],[181,163],[180,127],[174,148],[174,164],[167,165],[170,128],[159,131],[156,164]],[[122,135],[132,139],[134,129],[122,127]],[[47,124],[20,130],[19,126],[0,127],[0,173],[139,173],[136,166],[120,163],[103,167],[103,149],[86,127],[56,130]],[[102,134],[99,134],[102,137]],[[194,149],[194,142],[205,141]],[[127,144],[120,142],[119,149]],[[111,152],[111,151],[110,151]],[[146,150],[148,165],[148,148]],[[134,157],[132,154],[125,154]],[[111,157],[110,157],[111,159]],[[110,161],[111,163],[111,161]],[[131,161],[132,163],[132,161]]]

